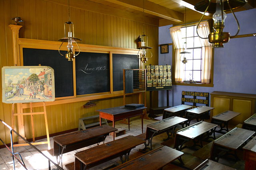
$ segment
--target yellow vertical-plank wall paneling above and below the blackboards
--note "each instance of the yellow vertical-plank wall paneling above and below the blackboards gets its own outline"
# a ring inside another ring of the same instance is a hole
[[[29,3],[24,0],[4,0],[0,1],[0,11],[0,17],[4,20],[4,24],[0,25],[2,32],[0,37],[6,40],[0,42],[1,67],[13,64],[12,35],[8,27],[13,21],[10,18],[19,16],[24,20],[19,23],[23,26],[19,33],[21,38],[58,41],[59,38],[64,37],[64,23],[68,21],[68,6],[45,0],[30,0]],[[136,48],[136,39],[143,31],[143,24],[140,22],[72,7],[70,8],[70,21],[74,23],[75,37],[82,39],[81,43],[83,44]],[[158,27],[146,24],[144,27],[145,34],[149,38],[148,45],[153,47],[153,58],[149,59],[147,64],[157,64]],[[138,95],[128,97],[126,103],[138,101],[137,98]],[[98,114],[95,112],[96,109],[122,106],[123,98],[98,101],[96,107],[84,109],[83,105],[87,102],[47,106],[49,133],[77,128],[79,118]],[[33,110],[39,111],[42,109],[43,107],[33,108]],[[0,118],[10,123],[10,112],[11,104],[1,103]],[[25,121],[26,137],[32,138],[30,117],[26,117]],[[44,117],[36,115],[34,121],[36,137],[46,135]],[[17,129],[16,118],[15,128]],[[0,137],[4,141],[10,142],[8,129],[5,128],[4,132],[1,131]]]

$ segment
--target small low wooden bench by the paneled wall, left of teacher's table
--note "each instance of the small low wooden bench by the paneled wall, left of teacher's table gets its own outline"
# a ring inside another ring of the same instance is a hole
[[[90,119],[97,119],[96,122],[94,123],[90,123],[90,124],[86,124],[86,120],[90,120]],[[102,124],[108,125],[108,122],[106,121],[106,119],[104,119],[102,122]],[[97,126],[100,125],[100,115],[93,115],[93,116],[88,116],[88,117],[83,117],[79,119],[78,122],[78,131],[85,130],[87,127],[93,127],[93,126]]]

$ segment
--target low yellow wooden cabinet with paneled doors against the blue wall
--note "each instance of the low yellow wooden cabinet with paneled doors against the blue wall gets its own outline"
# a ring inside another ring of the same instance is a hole
[[[241,113],[230,121],[231,124],[237,125],[243,123],[255,113],[256,94],[230,93],[230,92],[212,92],[210,118],[224,111],[236,111]]]

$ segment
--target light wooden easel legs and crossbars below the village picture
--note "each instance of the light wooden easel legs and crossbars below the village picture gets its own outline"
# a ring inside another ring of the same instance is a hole
[[[23,113],[22,104],[20,104],[20,107],[21,107],[20,108],[20,112],[21,113],[14,113],[14,103],[12,104],[12,122],[11,122],[12,129],[14,129],[14,116],[30,115],[30,117],[31,117],[31,125],[32,125],[32,136],[33,136],[33,143],[31,143],[31,144],[32,145],[48,144],[48,150],[50,150],[51,149],[51,147],[50,147],[50,137],[49,137],[49,129],[48,129],[48,122],[47,122],[45,102],[43,102],[44,111],[42,111],[42,112],[33,112],[32,102],[30,102],[30,113]],[[44,119],[45,119],[47,141],[44,141],[44,142],[35,142],[33,115],[39,115],[39,114],[44,114]],[[19,144],[15,144],[13,146],[14,147],[20,147],[20,146],[28,146],[28,145],[29,145],[28,143],[19,143]]]

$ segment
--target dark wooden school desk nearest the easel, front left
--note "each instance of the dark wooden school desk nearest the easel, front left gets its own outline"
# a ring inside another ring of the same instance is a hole
[[[114,127],[102,125],[83,131],[56,136],[53,138],[53,156],[56,156],[58,164],[60,164],[60,162],[62,162],[62,154],[104,142],[109,133],[117,130],[118,129]]]

